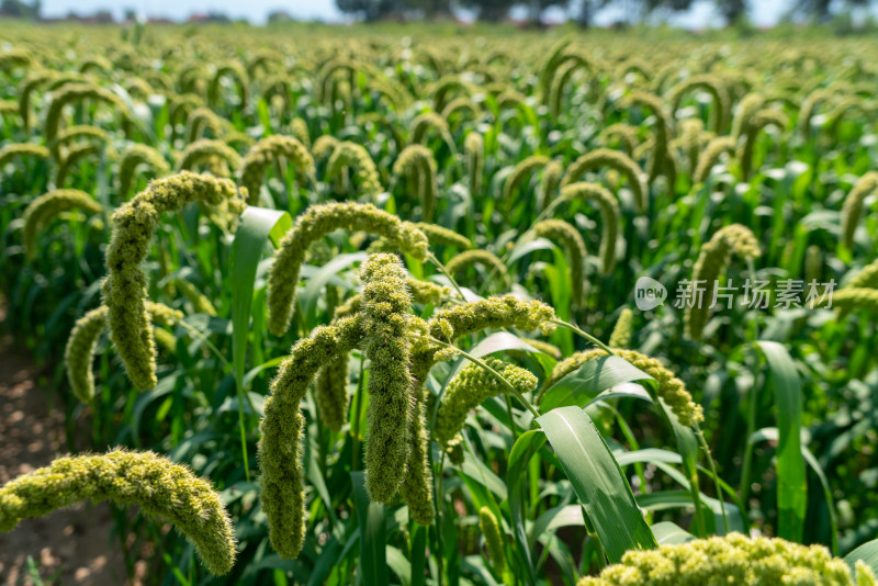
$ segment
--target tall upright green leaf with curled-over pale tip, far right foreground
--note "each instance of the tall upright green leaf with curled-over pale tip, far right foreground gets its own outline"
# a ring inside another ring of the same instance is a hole
[[[796,363],[778,342],[756,342],[765,354],[777,404],[777,508],[778,536],[797,543],[804,532],[808,485],[801,449],[802,397]],[[755,397],[754,397],[755,401]]]

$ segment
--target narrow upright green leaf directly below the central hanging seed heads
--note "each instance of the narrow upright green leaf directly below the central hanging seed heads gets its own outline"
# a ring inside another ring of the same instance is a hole
[[[353,500],[360,523],[360,576],[364,585],[390,584],[384,505],[372,503],[365,491],[365,474],[351,472]]]

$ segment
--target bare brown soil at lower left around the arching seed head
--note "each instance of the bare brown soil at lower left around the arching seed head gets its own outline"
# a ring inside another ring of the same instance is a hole
[[[0,322],[4,312],[0,308]],[[64,415],[49,413],[31,358],[0,336],[0,485],[64,455]],[[0,533],[0,584],[131,584],[106,504],[80,503]],[[138,564],[139,565],[139,564]],[[145,566],[138,568],[145,571]],[[135,581],[138,583],[140,581]]]

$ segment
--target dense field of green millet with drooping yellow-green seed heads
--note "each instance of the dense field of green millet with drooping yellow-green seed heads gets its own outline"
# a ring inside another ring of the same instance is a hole
[[[7,324],[136,451],[1,528],[139,504],[168,584],[875,583],[878,46],[8,33]]]

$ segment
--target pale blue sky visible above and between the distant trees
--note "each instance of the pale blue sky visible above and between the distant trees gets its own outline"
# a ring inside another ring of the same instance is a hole
[[[756,25],[770,25],[788,5],[788,0],[754,0],[752,18]],[[43,0],[46,16],[63,16],[70,10],[89,13],[98,9],[111,9],[117,16],[126,8],[132,8],[145,16],[168,16],[184,19],[192,12],[224,12],[233,18],[248,18],[257,23],[264,22],[266,15],[275,9],[290,12],[297,19],[322,19],[339,21],[344,16],[336,9],[335,0]],[[611,11],[605,11],[603,21],[612,21]],[[700,27],[717,22],[711,3],[696,1],[688,13],[676,19],[677,24]]]

